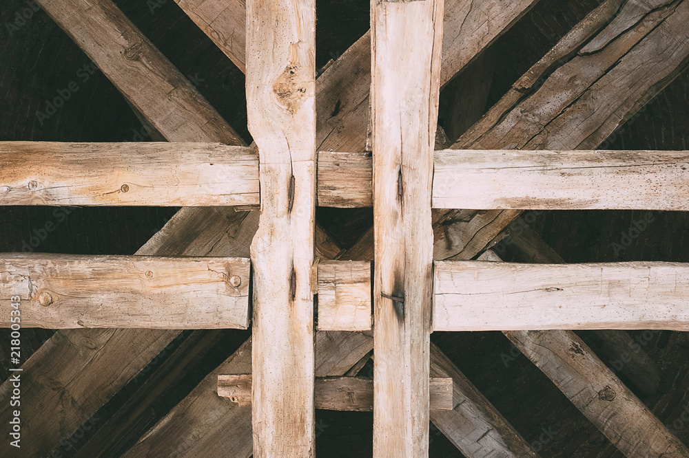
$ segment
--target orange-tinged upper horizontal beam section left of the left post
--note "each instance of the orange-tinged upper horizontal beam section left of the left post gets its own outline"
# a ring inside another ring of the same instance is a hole
[[[258,155],[220,143],[1,142],[0,205],[259,203]]]

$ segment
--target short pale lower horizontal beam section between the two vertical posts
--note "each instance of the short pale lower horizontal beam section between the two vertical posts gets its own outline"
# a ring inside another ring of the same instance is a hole
[[[318,330],[371,329],[371,263],[318,263]]]

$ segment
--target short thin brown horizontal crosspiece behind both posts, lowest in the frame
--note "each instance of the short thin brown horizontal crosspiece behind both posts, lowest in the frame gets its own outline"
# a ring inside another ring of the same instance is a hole
[[[431,410],[454,407],[451,377],[429,378]],[[218,375],[218,396],[240,406],[251,403],[251,374]],[[328,411],[373,411],[373,379],[367,377],[316,378],[316,408]]]

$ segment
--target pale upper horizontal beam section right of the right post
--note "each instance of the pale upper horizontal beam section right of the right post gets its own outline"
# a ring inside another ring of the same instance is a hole
[[[435,152],[433,208],[689,210],[686,151]]]

